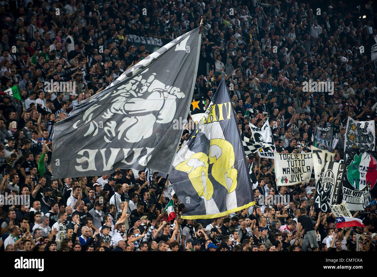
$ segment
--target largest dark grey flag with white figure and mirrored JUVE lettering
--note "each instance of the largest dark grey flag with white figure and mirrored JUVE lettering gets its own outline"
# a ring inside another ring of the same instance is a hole
[[[115,168],[169,172],[185,123],[176,122],[187,118],[192,101],[200,41],[199,28],[176,38],[57,122],[54,178]]]

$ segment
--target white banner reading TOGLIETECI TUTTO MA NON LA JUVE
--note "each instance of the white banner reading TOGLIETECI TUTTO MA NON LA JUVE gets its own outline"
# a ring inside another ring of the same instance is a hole
[[[312,153],[274,153],[275,174],[278,186],[289,186],[309,182],[313,170]]]

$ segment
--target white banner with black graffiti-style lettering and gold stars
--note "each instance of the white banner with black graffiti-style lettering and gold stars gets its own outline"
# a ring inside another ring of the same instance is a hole
[[[374,120],[357,121],[348,116],[344,138],[344,151],[349,147],[358,147],[367,152],[375,150]]]

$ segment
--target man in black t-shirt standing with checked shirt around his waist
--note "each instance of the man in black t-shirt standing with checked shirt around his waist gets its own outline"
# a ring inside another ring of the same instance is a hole
[[[301,216],[297,219],[297,234],[301,232],[301,229],[305,229],[304,238],[302,242],[302,251],[307,251],[310,244],[313,251],[318,251],[317,234],[314,229],[313,220],[310,216],[307,216],[306,208],[301,208]]]

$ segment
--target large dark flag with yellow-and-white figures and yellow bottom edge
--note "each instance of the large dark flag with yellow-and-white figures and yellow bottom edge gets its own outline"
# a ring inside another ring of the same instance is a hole
[[[224,78],[175,156],[169,181],[184,219],[224,216],[254,205],[245,152]]]

